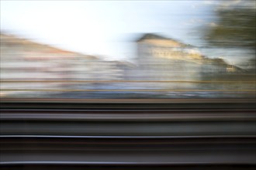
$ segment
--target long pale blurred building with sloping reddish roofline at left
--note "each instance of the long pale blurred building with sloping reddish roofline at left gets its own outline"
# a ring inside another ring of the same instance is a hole
[[[3,33],[1,33],[0,71],[2,95],[44,93],[29,91],[31,89],[72,88],[74,83],[68,83],[69,80],[120,80],[123,78],[123,71],[115,62],[57,49]],[[15,83],[6,83],[6,81],[15,81]],[[40,81],[40,83],[22,81]],[[54,83],[49,83],[50,81]],[[84,85],[88,87],[88,83]]]

